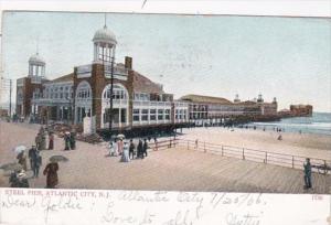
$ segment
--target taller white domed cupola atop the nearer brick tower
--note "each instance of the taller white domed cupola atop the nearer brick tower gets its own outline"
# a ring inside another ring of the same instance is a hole
[[[110,63],[115,58],[116,36],[107,28],[106,22],[103,29],[95,32],[94,38],[94,63]]]

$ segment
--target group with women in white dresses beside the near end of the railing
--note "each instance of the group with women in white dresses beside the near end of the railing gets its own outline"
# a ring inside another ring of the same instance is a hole
[[[121,162],[129,162],[130,160],[135,159],[143,159],[148,156],[147,139],[139,139],[138,144],[136,147],[134,140],[131,139],[129,142],[124,140],[122,138],[111,140],[109,142],[109,156],[110,157],[119,157]]]

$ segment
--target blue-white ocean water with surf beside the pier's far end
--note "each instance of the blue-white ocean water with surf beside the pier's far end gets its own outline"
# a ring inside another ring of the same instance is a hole
[[[273,130],[275,127],[281,128],[285,132],[302,132],[331,136],[331,114],[313,113],[312,117],[285,118],[275,122],[252,122],[257,129],[265,128]]]

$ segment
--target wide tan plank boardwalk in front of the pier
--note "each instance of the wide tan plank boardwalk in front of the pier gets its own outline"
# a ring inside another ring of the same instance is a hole
[[[31,136],[29,128],[8,126],[8,130],[18,128],[21,130],[18,133],[24,133],[25,130],[29,131],[26,138]],[[6,133],[1,132],[1,136]],[[47,159],[53,154],[63,154],[70,159],[60,164],[58,188],[62,189],[331,193],[330,175],[313,173],[314,189],[306,192],[301,170],[186,150],[183,147],[152,151],[143,160],[121,163],[118,158],[106,157],[105,146],[78,142],[78,150],[61,151],[63,143],[60,139],[56,139],[55,146],[56,150],[42,151],[42,156]],[[3,159],[8,161],[12,152],[6,153],[2,149],[0,154],[0,158],[3,157],[0,163],[3,163]],[[31,179],[30,183],[34,188],[43,188],[45,178]]]

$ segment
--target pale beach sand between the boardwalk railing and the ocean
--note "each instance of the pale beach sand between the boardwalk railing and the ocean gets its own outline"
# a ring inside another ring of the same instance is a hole
[[[218,143],[263,150],[268,152],[287,153],[301,157],[331,160],[331,137],[312,133],[281,132],[282,140],[277,140],[276,131],[263,131],[235,128],[209,127],[183,129],[179,138],[199,142]]]

